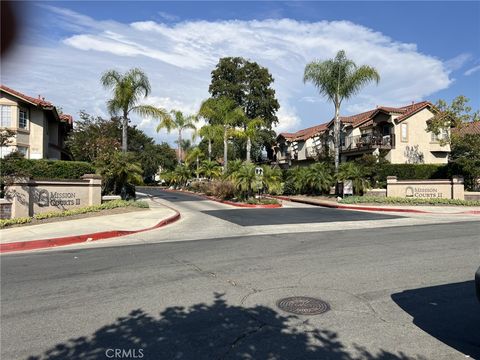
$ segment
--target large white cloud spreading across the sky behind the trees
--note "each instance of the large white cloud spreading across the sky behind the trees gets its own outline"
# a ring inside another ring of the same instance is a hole
[[[28,56],[2,63],[2,81],[33,95],[41,90],[66,112],[74,114],[80,109],[104,109],[110,93],[100,86],[101,73],[110,68],[125,71],[131,67],[140,67],[148,74],[153,90],[151,101],[193,112],[208,97],[210,72],[218,59],[242,56],[272,73],[281,105],[277,130],[292,131],[328,121],[332,116],[330,104],[323,102],[311,84],[302,81],[309,61],[331,58],[339,49],[345,49],[347,56],[358,64],[378,69],[380,84],[366,87],[346,104],[346,111],[423,99],[447,88],[452,82],[452,66],[462,62],[459,58],[443,63],[418,52],[415,44],[397,42],[349,21],[270,19],[125,24],[97,21],[71,10],[44,6],[57,17],[57,21],[51,22],[52,27],[68,23],[76,29],[74,34],[54,47],[26,47],[24,54]],[[318,102],[313,103],[315,99]],[[158,139],[153,124],[149,129],[151,120],[132,121]]]

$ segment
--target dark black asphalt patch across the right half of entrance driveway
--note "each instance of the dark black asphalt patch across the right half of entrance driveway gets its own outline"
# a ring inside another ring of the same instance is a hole
[[[399,219],[402,216],[325,208],[208,210],[204,214],[241,226]]]

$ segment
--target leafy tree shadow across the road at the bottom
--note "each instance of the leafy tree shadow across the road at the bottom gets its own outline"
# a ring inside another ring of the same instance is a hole
[[[114,358],[115,350],[123,351],[123,358],[129,355],[128,358],[155,360],[411,359],[403,353],[384,350],[373,354],[359,346],[356,355],[351,355],[336,333],[295,332],[287,327],[290,318],[264,306],[231,306],[223,295],[215,294],[212,305],[170,307],[159,318],[141,309],[134,310],[98,329],[91,337],[70,339],[29,359],[109,359]]]

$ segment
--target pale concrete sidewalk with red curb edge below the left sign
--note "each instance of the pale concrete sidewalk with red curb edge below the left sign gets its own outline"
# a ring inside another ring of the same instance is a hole
[[[164,226],[180,214],[157,202],[148,201],[145,211],[65,220],[0,230],[0,252],[95,241],[129,235]]]

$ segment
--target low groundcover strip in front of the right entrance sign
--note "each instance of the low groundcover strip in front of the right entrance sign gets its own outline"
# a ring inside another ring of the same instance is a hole
[[[418,199],[380,196],[349,196],[339,201],[342,204],[393,204],[393,205],[455,205],[480,206],[480,200]]]

